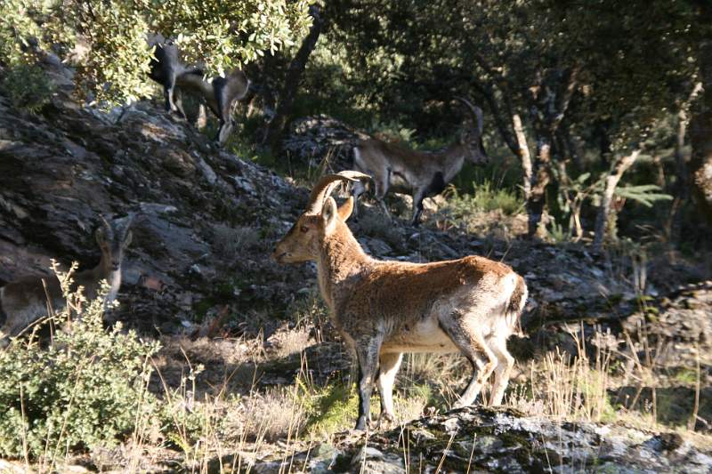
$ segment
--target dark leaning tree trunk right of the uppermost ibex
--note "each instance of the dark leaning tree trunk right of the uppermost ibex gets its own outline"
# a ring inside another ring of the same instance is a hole
[[[284,87],[282,87],[281,92],[279,92],[279,104],[265,135],[265,143],[275,154],[279,153],[281,148],[282,135],[287,128],[289,116],[292,114],[292,108],[294,108],[296,91],[302,80],[304,68],[306,68],[306,63],[317,44],[317,40],[324,26],[318,5],[311,5],[309,7],[309,14],[312,16],[312,28],[310,28],[309,34],[303,39],[302,45],[299,47],[299,51],[296,52],[295,58],[289,63]]]

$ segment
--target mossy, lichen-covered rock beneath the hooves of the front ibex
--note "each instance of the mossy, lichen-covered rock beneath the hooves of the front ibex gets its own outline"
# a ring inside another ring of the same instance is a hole
[[[709,472],[712,448],[673,432],[552,422],[513,410],[465,407],[369,435],[344,433],[286,462],[309,472]]]

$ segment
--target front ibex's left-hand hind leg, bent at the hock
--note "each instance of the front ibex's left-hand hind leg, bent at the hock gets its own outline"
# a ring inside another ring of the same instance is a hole
[[[460,352],[473,366],[473,378],[453,405],[455,408],[472,405],[480,395],[482,386],[498,366],[498,358],[488,346],[487,341],[482,337],[480,331],[465,322],[465,317],[450,315],[441,317],[440,320],[441,329],[449,335],[457,349],[460,349]]]

